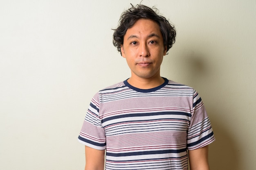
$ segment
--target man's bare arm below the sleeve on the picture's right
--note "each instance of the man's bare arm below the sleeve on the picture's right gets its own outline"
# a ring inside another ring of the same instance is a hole
[[[195,150],[189,150],[189,165],[191,170],[210,170],[208,145]]]

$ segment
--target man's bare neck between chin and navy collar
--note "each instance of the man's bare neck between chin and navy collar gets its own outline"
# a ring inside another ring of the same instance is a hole
[[[127,81],[130,85],[139,89],[152,89],[162,85],[164,83],[164,78],[161,76],[151,78],[135,78],[134,76],[131,76]]]

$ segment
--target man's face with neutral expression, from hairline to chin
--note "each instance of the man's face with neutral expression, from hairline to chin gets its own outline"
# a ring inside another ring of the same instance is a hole
[[[167,47],[156,22],[139,19],[124,35],[121,53],[128,63],[132,78],[160,76],[160,65]]]

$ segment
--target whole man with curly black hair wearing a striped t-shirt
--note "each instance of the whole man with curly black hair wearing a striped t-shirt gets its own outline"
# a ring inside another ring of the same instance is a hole
[[[209,170],[215,140],[198,93],[160,76],[175,28],[152,9],[125,11],[113,36],[131,70],[125,81],[92,98],[79,142],[85,170]],[[106,158],[105,158],[106,150]],[[188,151],[187,151],[188,150]]]

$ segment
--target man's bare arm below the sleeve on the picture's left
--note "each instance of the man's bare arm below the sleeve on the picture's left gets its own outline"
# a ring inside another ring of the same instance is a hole
[[[97,150],[85,146],[85,170],[103,170],[105,150]]]

